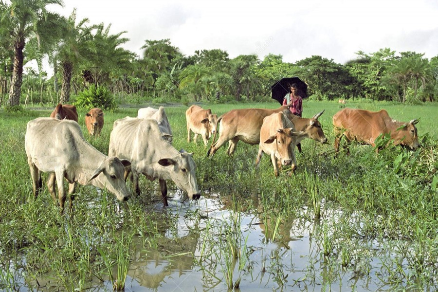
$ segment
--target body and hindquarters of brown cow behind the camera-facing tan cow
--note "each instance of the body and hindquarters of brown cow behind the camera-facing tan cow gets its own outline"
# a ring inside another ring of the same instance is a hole
[[[228,141],[227,154],[232,155],[236,149],[237,142],[242,141],[250,145],[260,143],[260,128],[263,124],[263,119],[276,112],[283,112],[288,117],[292,116],[291,111],[287,106],[281,106],[278,109],[241,109],[230,110],[221,115],[217,121],[219,123],[219,138],[207,152],[207,156],[213,156],[215,152]],[[213,142],[216,138],[216,133],[213,136]]]

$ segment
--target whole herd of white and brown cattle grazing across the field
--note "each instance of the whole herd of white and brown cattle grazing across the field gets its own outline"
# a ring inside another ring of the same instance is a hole
[[[295,146],[301,140],[310,138],[327,143],[318,118],[324,110],[312,118],[293,115],[286,106],[278,109],[230,110],[221,116],[212,114],[193,105],[186,110],[187,141],[194,141],[201,135],[204,145],[213,136],[207,156],[228,142],[227,154],[232,155],[238,141],[259,145],[256,166],[263,153],[271,157],[274,174],[278,176],[282,165],[296,168]],[[92,109],[85,115],[86,127],[90,135],[100,135],[104,125],[104,113]],[[419,146],[418,120],[409,123],[391,119],[386,110],[343,109],[333,116],[335,131],[335,153],[339,151],[340,140],[375,146],[380,134],[389,134],[395,145],[415,149]],[[219,138],[216,140],[219,126]],[[78,114],[72,105],[58,104],[50,118],[37,118],[27,124],[25,150],[33,180],[34,195],[41,188],[40,172],[48,172],[47,186],[54,201],[58,201],[61,211],[67,198],[64,179],[69,184],[70,207],[72,207],[75,183],[92,184],[106,188],[118,200],[126,201],[129,191],[128,177],[137,195],[140,194],[138,180],[140,174],[154,181],[158,179],[164,206],[167,206],[166,180],[172,180],[188,194],[190,199],[199,199],[201,193],[196,181],[196,164],[193,153],[178,151],[172,146],[172,130],[164,108],[144,108],[138,110],[136,118],[126,117],[116,120],[110,134],[109,156],[99,152],[83,137],[78,125]],[[301,148],[298,148],[301,152]],[[349,153],[347,148],[347,153]],[[55,182],[58,186],[56,198]]]

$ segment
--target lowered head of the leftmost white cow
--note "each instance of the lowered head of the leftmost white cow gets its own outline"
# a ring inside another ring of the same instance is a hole
[[[107,157],[94,171],[88,181],[99,188],[106,188],[114,194],[119,201],[127,201],[130,194],[125,183],[125,167],[131,165],[126,159]]]

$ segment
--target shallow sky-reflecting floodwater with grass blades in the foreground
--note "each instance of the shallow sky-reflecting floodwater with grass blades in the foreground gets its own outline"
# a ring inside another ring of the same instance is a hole
[[[346,237],[337,229],[361,226],[360,212],[345,214],[323,204],[322,220],[310,219],[313,211],[307,207],[290,217],[268,218],[261,212],[264,206],[259,199],[248,199],[251,202],[246,205],[251,209],[236,210],[239,207],[230,207],[235,205],[233,197],[206,193],[199,201],[182,202],[176,194],[169,208],[163,209],[160,202],[150,206],[145,211],[157,219],[153,238],[136,234],[122,245],[116,243],[116,255],[123,250],[128,260],[125,291],[226,291],[233,287],[242,291],[392,291],[416,283],[416,271],[410,269],[406,257],[415,252],[415,246],[408,240],[372,238],[361,230]],[[93,205],[89,204],[102,207]],[[110,209],[118,213],[123,226],[129,210],[123,206]],[[122,232],[117,233],[123,238]],[[88,256],[92,257],[92,241],[105,239],[84,229],[81,240],[90,247]],[[21,262],[11,259],[9,267],[1,266],[2,280],[13,284],[6,290],[66,289],[68,281],[59,271],[35,271],[32,276],[20,268],[29,266],[33,256],[24,251]],[[112,291],[115,279],[111,277],[121,264],[121,258],[112,258],[108,273],[92,276],[82,283],[82,289]],[[73,275],[80,273],[80,267],[73,270],[70,276],[80,279],[79,274]],[[397,275],[409,275],[412,282]],[[424,291],[437,288],[436,274],[430,275],[430,281]]]

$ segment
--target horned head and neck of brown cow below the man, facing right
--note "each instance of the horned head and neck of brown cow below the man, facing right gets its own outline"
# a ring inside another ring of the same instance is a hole
[[[321,123],[318,121],[318,118],[324,113],[324,110],[315,114],[311,119],[302,118],[296,115],[292,115],[292,119],[290,119],[293,123],[293,127],[296,131],[304,132],[304,135],[300,135],[296,138],[296,146],[298,146],[298,151],[301,153],[300,142],[304,138],[310,138],[312,140],[327,143],[326,135],[324,135],[324,131],[321,128]]]

